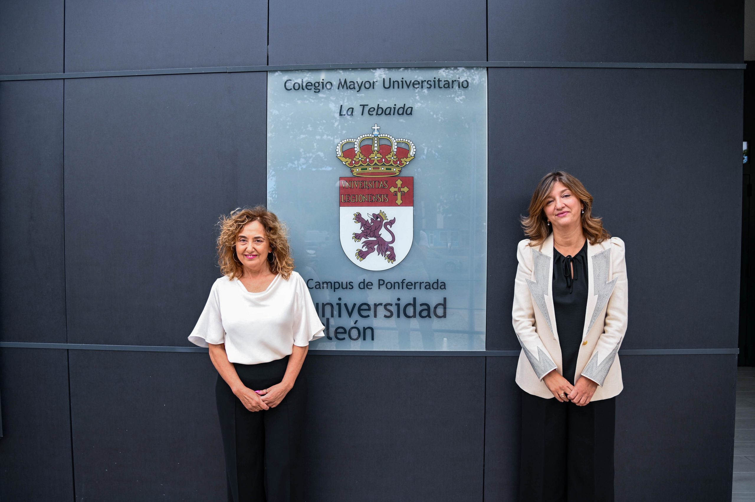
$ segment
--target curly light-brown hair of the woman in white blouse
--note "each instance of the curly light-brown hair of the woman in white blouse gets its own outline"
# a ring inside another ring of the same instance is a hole
[[[236,256],[236,239],[247,223],[259,221],[265,229],[265,239],[270,242],[270,249],[275,258],[268,260],[270,272],[280,274],[283,279],[291,277],[294,269],[294,258],[291,257],[291,247],[288,245],[288,231],[285,223],[278,217],[267,211],[263,205],[255,208],[236,208],[231,214],[223,214],[217,226],[220,227],[220,235],[217,236],[217,263],[220,271],[229,279],[239,278],[244,275],[244,267]]]

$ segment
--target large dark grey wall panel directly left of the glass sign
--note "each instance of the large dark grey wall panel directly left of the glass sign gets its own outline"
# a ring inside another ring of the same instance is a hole
[[[266,89],[261,72],[66,82],[69,343],[186,344],[217,217],[265,202]]]

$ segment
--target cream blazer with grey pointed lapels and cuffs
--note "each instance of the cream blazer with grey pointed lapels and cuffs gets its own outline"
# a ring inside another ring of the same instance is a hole
[[[511,316],[522,345],[516,383],[534,396],[552,398],[543,377],[553,369],[563,374],[553,311],[553,234],[534,248],[529,242],[519,242],[516,251],[519,266]],[[612,237],[596,245],[588,244],[587,277],[590,285],[576,374],[599,384],[592,399],[596,401],[616,396],[624,388],[618,362],[618,348],[627,331],[624,241]]]

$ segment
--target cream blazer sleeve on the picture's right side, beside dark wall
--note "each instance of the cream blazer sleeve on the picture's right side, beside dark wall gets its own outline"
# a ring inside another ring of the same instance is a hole
[[[616,354],[627,332],[628,293],[627,293],[627,263],[624,261],[624,241],[618,237],[611,238],[611,260],[613,279],[605,285],[597,285],[605,294],[610,294],[606,306],[606,323],[602,334],[598,338],[595,350],[589,362],[582,370],[582,376],[587,377],[602,387],[609,370],[616,359]],[[605,252],[605,251],[604,251]],[[604,266],[608,266],[606,260]],[[613,284],[612,284],[613,283]],[[609,291],[612,288],[612,291]],[[600,292],[600,291],[599,291]]]

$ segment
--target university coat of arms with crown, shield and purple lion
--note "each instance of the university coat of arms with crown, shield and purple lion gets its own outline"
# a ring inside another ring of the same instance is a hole
[[[380,132],[338,143],[336,155],[354,177],[339,180],[341,248],[358,266],[387,270],[401,263],[414,236],[414,178],[399,177],[414,143]]]

